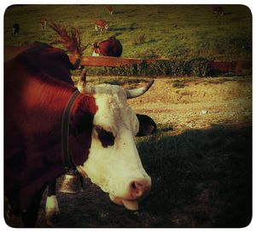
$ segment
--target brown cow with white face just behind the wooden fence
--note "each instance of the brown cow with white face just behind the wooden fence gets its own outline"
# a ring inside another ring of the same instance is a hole
[[[123,52],[122,44],[115,37],[109,37],[106,41],[93,43],[92,49],[92,56],[119,57]]]

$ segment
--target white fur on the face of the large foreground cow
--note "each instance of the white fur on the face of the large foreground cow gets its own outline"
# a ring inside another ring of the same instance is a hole
[[[119,86],[97,85],[94,97],[98,111],[93,123],[112,132],[114,144],[103,148],[96,129],[93,129],[89,158],[79,169],[84,170],[103,191],[129,199],[131,181],[148,179],[151,182],[134,142],[139,128],[137,116],[127,104],[125,90]]]

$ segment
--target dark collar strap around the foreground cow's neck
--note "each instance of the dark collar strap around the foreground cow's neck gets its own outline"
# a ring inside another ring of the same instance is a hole
[[[68,136],[69,136],[69,122],[70,122],[72,107],[74,105],[75,100],[78,99],[79,94],[80,93],[78,90],[72,94],[72,96],[67,102],[67,105],[65,106],[65,109],[62,114],[62,119],[61,119],[62,161],[66,169],[75,168],[75,165],[72,160],[72,156],[69,153]]]

